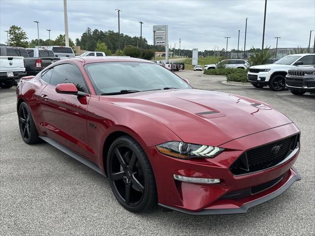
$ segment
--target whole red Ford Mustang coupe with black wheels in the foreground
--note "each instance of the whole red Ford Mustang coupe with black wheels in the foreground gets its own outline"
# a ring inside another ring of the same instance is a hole
[[[290,119],[146,60],[55,62],[22,78],[17,112],[25,143],[42,139],[107,176],[133,212],[243,213],[301,179]]]

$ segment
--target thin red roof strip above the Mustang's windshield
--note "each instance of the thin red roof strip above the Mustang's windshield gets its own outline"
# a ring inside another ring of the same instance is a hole
[[[60,60],[60,62],[81,62],[84,64],[88,63],[97,63],[97,62],[149,62],[154,63],[150,60],[138,59],[138,58],[125,58],[125,57],[77,57],[77,58],[69,58]]]

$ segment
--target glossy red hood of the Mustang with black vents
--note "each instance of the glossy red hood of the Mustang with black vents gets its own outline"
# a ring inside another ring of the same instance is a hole
[[[292,122],[267,104],[218,91],[176,89],[102,99],[158,120],[184,142],[209,146]]]

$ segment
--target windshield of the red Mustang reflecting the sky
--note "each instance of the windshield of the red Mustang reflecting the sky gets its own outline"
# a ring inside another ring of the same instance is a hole
[[[121,90],[191,89],[180,77],[156,63],[98,62],[85,65],[98,95]]]

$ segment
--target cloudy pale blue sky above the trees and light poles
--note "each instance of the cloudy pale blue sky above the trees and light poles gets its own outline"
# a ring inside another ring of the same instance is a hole
[[[67,0],[69,36],[79,37],[87,27],[118,31],[120,8],[121,32],[143,36],[152,44],[152,26],[168,25],[169,44],[181,48],[213,49],[214,45],[244,47],[245,18],[248,17],[246,47],[261,47],[264,0]],[[307,47],[310,30],[315,29],[315,0],[268,0],[265,44],[276,47]],[[47,39],[64,33],[63,0],[0,0],[0,42],[11,25],[22,27],[29,39],[37,38],[33,21],[39,21],[39,36]],[[314,44],[314,32],[311,47]]]

